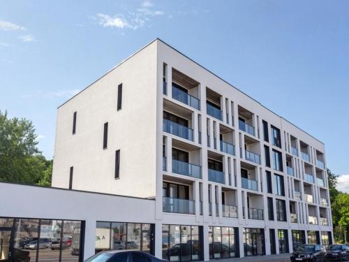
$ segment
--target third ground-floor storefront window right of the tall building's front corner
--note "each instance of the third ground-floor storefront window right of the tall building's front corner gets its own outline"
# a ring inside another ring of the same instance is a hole
[[[243,235],[245,256],[265,254],[265,235],[263,228],[244,228]]]

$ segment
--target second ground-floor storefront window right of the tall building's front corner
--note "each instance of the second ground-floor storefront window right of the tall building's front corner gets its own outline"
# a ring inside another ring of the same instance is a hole
[[[227,226],[209,226],[209,258],[237,257],[239,229]]]

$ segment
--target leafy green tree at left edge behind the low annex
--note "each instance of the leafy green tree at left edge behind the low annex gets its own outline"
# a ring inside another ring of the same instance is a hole
[[[37,184],[50,163],[38,150],[34,125],[0,111],[0,182]],[[47,185],[47,183],[45,184]]]

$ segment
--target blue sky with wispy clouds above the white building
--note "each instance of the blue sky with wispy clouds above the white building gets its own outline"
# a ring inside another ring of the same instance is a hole
[[[32,119],[47,158],[57,106],[159,37],[324,142],[327,166],[349,174],[349,1],[0,3],[0,110]]]

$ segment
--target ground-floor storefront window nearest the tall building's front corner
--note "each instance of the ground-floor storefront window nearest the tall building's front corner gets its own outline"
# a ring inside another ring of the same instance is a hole
[[[163,259],[202,259],[202,226],[163,225]]]

